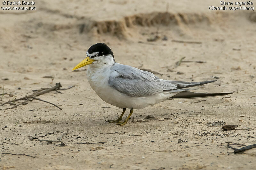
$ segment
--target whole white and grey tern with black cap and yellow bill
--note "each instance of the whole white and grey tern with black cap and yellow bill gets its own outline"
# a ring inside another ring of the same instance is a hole
[[[116,120],[106,120],[124,125],[131,117],[133,109],[142,109],[169,99],[203,98],[224,96],[232,93],[195,93],[188,90],[213,81],[186,82],[163,80],[153,73],[135,67],[116,63],[112,50],[104,43],[92,45],[87,57],[73,70],[89,65],[87,79],[92,89],[105,102],[123,109]],[[129,116],[123,121],[126,108]]]

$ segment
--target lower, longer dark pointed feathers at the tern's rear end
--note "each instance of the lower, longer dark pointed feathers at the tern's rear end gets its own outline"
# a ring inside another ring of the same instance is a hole
[[[231,93],[195,93],[191,91],[182,91],[172,97],[169,97],[169,99],[195,99],[195,98],[204,98],[204,97],[214,97],[214,96],[225,96],[233,94]]]

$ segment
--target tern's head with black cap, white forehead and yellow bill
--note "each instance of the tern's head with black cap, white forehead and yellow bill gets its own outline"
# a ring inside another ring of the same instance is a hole
[[[112,50],[104,43],[92,45],[87,50],[86,54],[87,57],[78,63],[72,70],[76,70],[77,68],[81,68],[89,64],[94,67],[102,67],[104,65],[112,66],[116,62]]]

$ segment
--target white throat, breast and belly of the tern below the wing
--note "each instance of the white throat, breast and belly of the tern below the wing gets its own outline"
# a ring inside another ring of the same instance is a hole
[[[170,94],[160,93],[146,97],[127,96],[108,85],[109,68],[90,69],[87,78],[96,94],[106,103],[119,108],[142,109],[156,103],[160,103],[170,97]],[[173,95],[173,94],[172,94]],[[171,95],[171,96],[172,96]]]

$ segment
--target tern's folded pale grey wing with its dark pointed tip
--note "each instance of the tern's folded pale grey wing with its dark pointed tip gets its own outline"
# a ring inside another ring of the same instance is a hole
[[[159,93],[173,93],[194,89],[185,89],[213,81],[186,82],[170,81],[135,67],[116,63],[110,68],[108,85],[131,97],[145,97]]]

